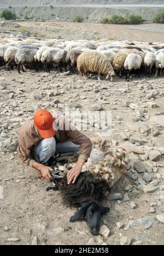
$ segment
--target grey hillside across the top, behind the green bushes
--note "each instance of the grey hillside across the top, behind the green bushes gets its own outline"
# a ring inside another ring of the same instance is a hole
[[[87,7],[86,4],[162,4],[163,0],[89,0],[89,1],[63,1],[63,0],[0,0],[0,11],[5,6],[13,7],[17,17],[21,20],[37,19],[37,20],[55,20],[55,21],[72,21],[76,15],[80,15],[84,22],[99,22],[104,17],[112,16],[113,14],[141,15],[146,21],[153,21],[155,14],[161,10],[156,7]],[[22,4],[22,5],[21,5]],[[59,5],[60,6],[55,6]],[[70,4],[70,6],[61,6],[61,4]],[[73,7],[73,4],[85,4],[84,7]],[[20,5],[20,6],[16,6]],[[34,5],[34,6],[32,6]],[[51,5],[51,7],[50,7]]]

